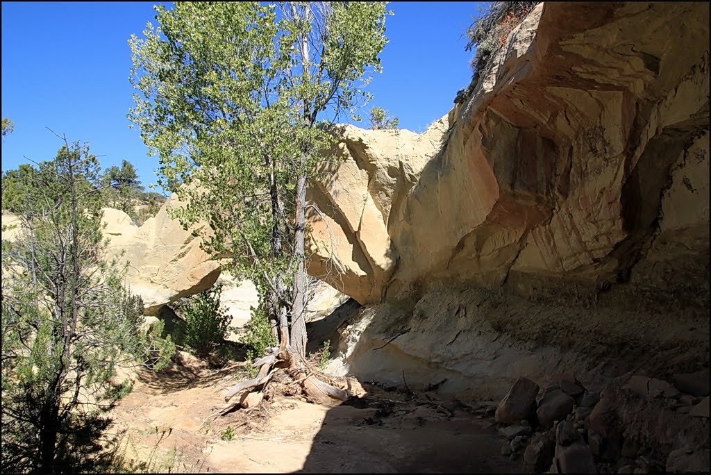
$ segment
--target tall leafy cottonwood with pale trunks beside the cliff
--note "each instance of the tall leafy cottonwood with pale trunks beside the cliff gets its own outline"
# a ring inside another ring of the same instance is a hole
[[[158,26],[129,42],[137,90],[129,117],[159,156],[161,186],[188,202],[173,215],[186,227],[209,223],[205,249],[233,256],[278,326],[278,354],[261,381],[274,361],[296,368],[306,351],[305,213],[316,209],[306,186],[333,159],[325,154],[333,120],[369,99],[363,87],[387,42],[385,3],[156,11]]]

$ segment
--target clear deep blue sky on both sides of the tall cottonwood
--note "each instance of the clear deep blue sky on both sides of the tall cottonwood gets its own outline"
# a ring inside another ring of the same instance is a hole
[[[472,53],[464,32],[485,2],[392,2],[390,39],[375,75],[373,102],[400,117],[400,128],[422,132],[447,114],[456,92],[469,85]],[[154,21],[154,2],[3,2],[2,117],[15,123],[4,137],[2,170],[29,159],[52,159],[61,142],[88,142],[102,168],[122,159],[144,185],[156,183],[158,160],[147,155],[126,114],[132,33]],[[363,114],[367,117],[367,114]],[[363,122],[361,127],[368,127]]]

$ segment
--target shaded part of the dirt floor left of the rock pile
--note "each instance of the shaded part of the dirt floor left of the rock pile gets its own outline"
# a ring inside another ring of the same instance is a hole
[[[493,414],[365,386],[368,394],[328,411],[294,473],[525,473],[520,461],[501,455]]]

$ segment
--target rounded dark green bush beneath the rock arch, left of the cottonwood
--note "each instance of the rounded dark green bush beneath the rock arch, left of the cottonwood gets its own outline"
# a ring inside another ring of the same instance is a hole
[[[223,284],[216,283],[191,297],[174,304],[182,320],[173,332],[176,343],[189,346],[198,356],[207,357],[228,336],[230,315],[220,306]]]

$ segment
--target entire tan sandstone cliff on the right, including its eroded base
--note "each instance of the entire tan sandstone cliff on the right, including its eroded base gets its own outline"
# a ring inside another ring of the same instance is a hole
[[[479,395],[707,370],[708,15],[539,4],[424,134],[344,127],[309,272],[365,309],[331,370]]]

